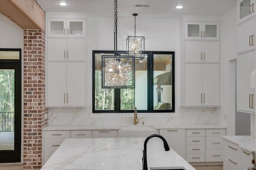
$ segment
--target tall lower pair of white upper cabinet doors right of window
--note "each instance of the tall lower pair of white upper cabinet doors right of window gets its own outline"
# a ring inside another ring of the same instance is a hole
[[[219,64],[185,63],[185,106],[219,106],[219,92]]]

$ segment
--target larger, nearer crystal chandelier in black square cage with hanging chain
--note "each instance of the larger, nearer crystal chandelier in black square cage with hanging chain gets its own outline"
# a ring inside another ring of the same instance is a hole
[[[114,0],[114,56],[102,55],[102,88],[135,88],[134,56],[118,55],[117,0]]]

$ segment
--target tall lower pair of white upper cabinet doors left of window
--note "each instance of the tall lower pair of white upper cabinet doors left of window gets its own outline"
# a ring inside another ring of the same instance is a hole
[[[86,64],[47,62],[47,106],[86,106]]]

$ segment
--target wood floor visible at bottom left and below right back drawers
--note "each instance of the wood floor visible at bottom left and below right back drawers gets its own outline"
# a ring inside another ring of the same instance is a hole
[[[222,165],[193,166],[196,170],[223,170]],[[22,164],[0,164],[0,170],[23,170]]]

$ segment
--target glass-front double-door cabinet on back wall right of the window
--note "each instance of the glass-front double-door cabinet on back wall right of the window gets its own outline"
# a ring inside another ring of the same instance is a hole
[[[185,39],[220,40],[220,23],[185,21]]]

